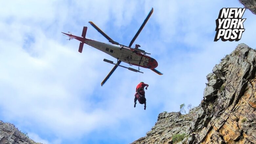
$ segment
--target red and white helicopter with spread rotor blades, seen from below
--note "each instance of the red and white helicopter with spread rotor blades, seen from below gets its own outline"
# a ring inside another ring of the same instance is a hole
[[[162,73],[160,71],[155,69],[158,66],[158,62],[154,58],[151,58],[149,56],[150,53],[147,53],[144,50],[139,49],[140,45],[137,45],[137,44],[135,45],[135,48],[131,47],[133,45],[134,41],[136,40],[136,38],[138,37],[139,33],[141,32],[142,28],[147,23],[147,21],[152,13],[153,13],[153,8],[147,15],[146,19],[144,20],[144,22],[142,23],[139,30],[137,31],[137,33],[135,34],[135,36],[133,37],[133,39],[131,40],[131,42],[128,46],[119,44],[118,42],[115,42],[113,39],[111,39],[107,34],[105,34],[99,27],[97,27],[91,21],[89,23],[100,34],[102,34],[111,44],[107,44],[104,42],[99,42],[99,41],[85,38],[86,32],[87,32],[87,27],[83,27],[83,31],[82,31],[82,35],[81,35],[82,37],[75,36],[75,35],[71,34],[70,32],[68,32],[68,33],[62,32],[62,33],[65,34],[65,36],[69,37],[68,40],[76,39],[76,40],[80,41],[80,45],[78,48],[78,52],[80,52],[80,53],[82,53],[84,44],[87,44],[87,45],[90,45],[100,51],[103,51],[117,59],[117,63],[114,63],[113,61],[110,61],[107,59],[103,60],[104,62],[114,64],[115,66],[109,72],[109,74],[106,76],[106,78],[101,82],[101,86],[109,79],[109,77],[113,74],[113,72],[117,69],[118,66],[127,68],[128,70],[131,70],[134,72],[139,72],[139,73],[143,73],[140,71],[139,67],[148,68],[148,69],[154,71],[155,73],[162,75]],[[120,65],[121,62],[128,63],[129,65],[138,66],[138,70],[131,68],[131,67],[126,67],[126,66]]]

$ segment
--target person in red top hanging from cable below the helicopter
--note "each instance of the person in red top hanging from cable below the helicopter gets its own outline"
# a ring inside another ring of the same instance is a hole
[[[136,87],[136,93],[135,93],[135,98],[134,98],[134,107],[136,107],[136,103],[137,103],[137,99],[139,101],[140,104],[144,104],[144,110],[146,110],[146,98],[145,98],[145,91],[144,91],[144,87],[146,87],[145,89],[148,89],[148,84],[144,83],[144,82],[140,82],[137,87]]]

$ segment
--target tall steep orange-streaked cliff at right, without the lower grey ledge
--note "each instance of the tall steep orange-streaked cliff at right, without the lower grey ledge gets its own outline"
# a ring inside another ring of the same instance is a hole
[[[207,75],[202,116],[191,123],[190,143],[256,143],[256,51],[245,44]]]

